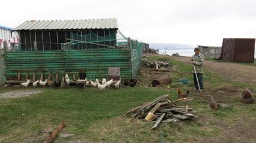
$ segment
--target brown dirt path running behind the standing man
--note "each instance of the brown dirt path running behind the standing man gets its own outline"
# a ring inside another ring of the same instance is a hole
[[[190,57],[173,57],[175,60],[190,62]],[[242,65],[240,63],[205,61],[204,68],[220,75],[228,81],[249,83],[256,85],[256,66]]]

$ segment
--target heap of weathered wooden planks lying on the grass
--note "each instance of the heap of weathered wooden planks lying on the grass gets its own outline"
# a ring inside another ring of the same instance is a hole
[[[191,98],[172,101],[168,96],[163,95],[151,102],[145,102],[139,107],[130,109],[124,115],[153,122],[154,126],[151,129],[155,129],[161,122],[179,122],[180,120],[198,117],[195,115],[197,112],[194,109],[177,105],[180,102],[191,101]]]

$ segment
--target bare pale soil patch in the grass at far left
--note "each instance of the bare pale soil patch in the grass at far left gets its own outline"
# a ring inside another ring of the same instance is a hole
[[[0,93],[0,99],[2,98],[23,98],[30,95],[40,93],[41,90],[16,90],[12,92]]]

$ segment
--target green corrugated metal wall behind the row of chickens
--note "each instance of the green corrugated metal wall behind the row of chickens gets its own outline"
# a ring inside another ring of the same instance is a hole
[[[133,50],[132,50],[133,51]],[[133,59],[131,62],[131,55]],[[52,71],[53,77],[59,71],[59,79],[64,71],[75,74],[78,78],[79,69],[86,69],[87,77],[91,80],[101,79],[108,74],[108,67],[120,67],[121,74],[131,78],[136,74],[139,60],[131,54],[129,49],[114,50],[70,50],[70,51],[19,51],[5,53],[5,68],[7,80],[17,79],[17,71],[29,70],[29,79],[33,77],[33,70],[44,71],[43,79],[48,78]],[[134,62],[135,61],[135,62]],[[47,69],[47,71],[45,71]],[[25,80],[23,72],[21,80]],[[36,73],[35,79],[40,79],[41,72]],[[72,76],[73,77],[73,76]],[[71,78],[73,80],[73,78]]]

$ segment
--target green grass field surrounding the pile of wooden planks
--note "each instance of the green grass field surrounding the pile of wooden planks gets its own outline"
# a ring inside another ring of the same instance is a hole
[[[171,60],[170,57],[163,56],[150,56],[148,59]],[[144,75],[141,75],[141,82],[134,88],[107,89],[100,93],[93,87],[88,87],[85,91],[76,87],[39,87],[37,89],[42,92],[37,95],[0,99],[0,142],[43,142],[47,136],[43,136],[41,130],[47,127],[55,128],[61,121],[67,123],[64,132],[73,133],[75,136],[57,138],[54,142],[199,142],[205,141],[206,138],[215,138],[226,126],[236,124],[242,118],[246,124],[256,121],[255,104],[244,105],[239,102],[237,96],[230,95],[229,92],[227,96],[216,97],[219,97],[218,101],[231,104],[232,108],[218,111],[212,111],[208,107],[207,97],[201,98],[197,92],[192,92],[190,97],[194,100],[180,105],[194,108],[199,117],[180,124],[163,123],[153,131],[150,130],[153,125],[151,123],[121,117],[130,108],[158,96],[169,94],[172,99],[177,99],[177,87],[182,90],[192,89],[192,84],[173,84],[180,78],[191,81],[192,75],[184,74],[192,71],[191,67],[175,60],[171,60],[171,63],[177,65],[178,69],[177,72],[170,73],[173,82],[168,86],[149,87],[144,84]],[[206,95],[213,95],[218,90],[226,92],[226,87],[236,86],[243,89],[245,86],[227,83],[209,71],[206,71],[205,75]],[[1,87],[0,92],[12,90],[22,89]]]

